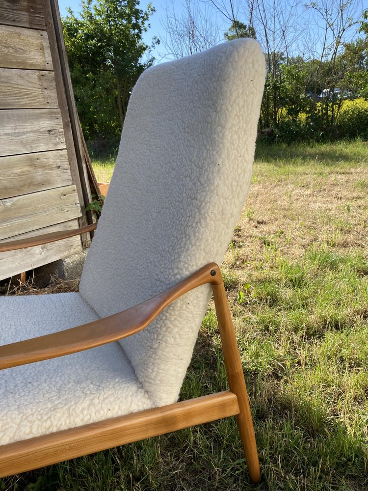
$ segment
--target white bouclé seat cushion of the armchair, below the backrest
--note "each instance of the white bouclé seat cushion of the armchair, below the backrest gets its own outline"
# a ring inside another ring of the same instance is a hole
[[[0,344],[98,319],[78,293],[0,298]],[[119,343],[0,371],[0,445],[153,403]]]

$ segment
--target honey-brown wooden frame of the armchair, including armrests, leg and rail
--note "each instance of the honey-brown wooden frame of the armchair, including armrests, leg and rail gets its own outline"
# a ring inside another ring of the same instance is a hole
[[[53,242],[95,228],[96,224],[93,224],[3,243],[0,252]],[[0,446],[0,477],[235,415],[251,481],[258,483],[260,465],[248,394],[221,271],[215,263],[204,266],[172,288],[123,312],[1,346],[0,369],[76,353],[131,336],[147,327],[168,304],[206,283],[212,287],[230,390]]]

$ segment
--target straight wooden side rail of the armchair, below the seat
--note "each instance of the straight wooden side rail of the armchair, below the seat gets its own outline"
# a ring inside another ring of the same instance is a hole
[[[0,446],[0,477],[226,418],[238,412],[237,396],[226,391],[10,443]]]

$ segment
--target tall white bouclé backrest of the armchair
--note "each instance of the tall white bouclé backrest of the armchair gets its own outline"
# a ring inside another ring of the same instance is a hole
[[[80,282],[100,316],[221,264],[251,181],[264,77],[252,39],[140,77]],[[190,292],[120,342],[157,405],[178,398],[209,298],[208,285]]]

